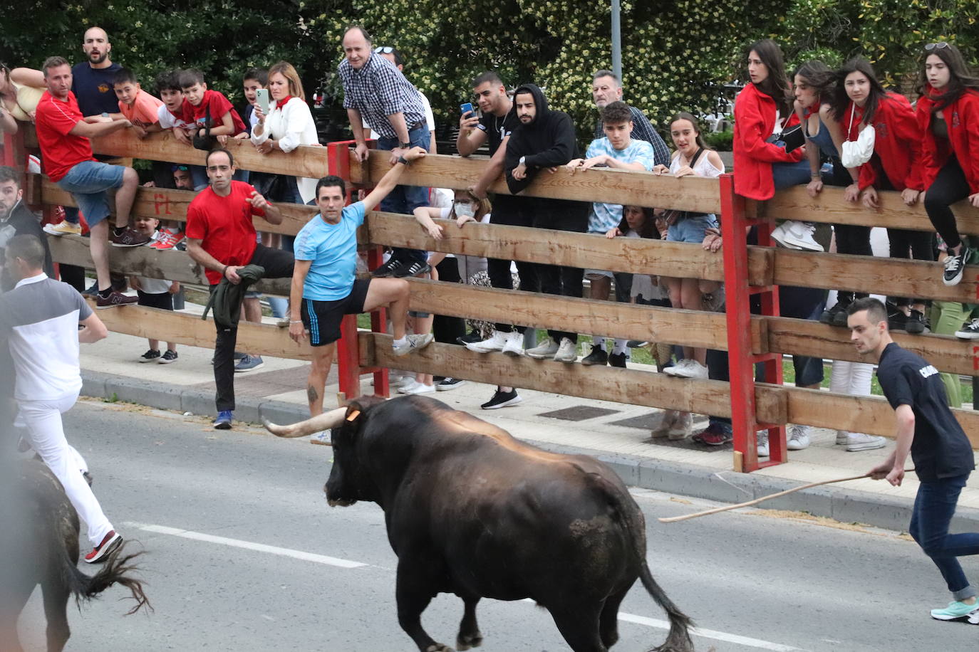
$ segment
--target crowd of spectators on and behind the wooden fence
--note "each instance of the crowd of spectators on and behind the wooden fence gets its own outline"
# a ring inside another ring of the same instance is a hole
[[[292,202],[319,205],[320,216],[328,225],[356,217],[347,213],[341,216],[332,203],[329,209],[326,207],[326,199],[319,196],[320,192],[333,197],[335,185],[323,186],[322,181],[317,185],[316,179],[288,175],[250,173],[235,166],[231,152],[220,149],[228,139],[249,139],[260,154],[276,150],[294,152],[301,146],[319,145],[303,84],[293,65],[280,62],[267,70],[249,70],[242,79],[247,104],[239,111],[224,95],[211,90],[208,80],[198,70],[162,71],[153,82],[158,99],[141,87],[131,71],[111,62],[111,47],[108,34],[92,27],[85,32],[85,62],[71,66],[65,59],[52,57],[40,71],[4,67],[0,73],[0,128],[16,129],[15,117],[36,122],[44,170],[52,181],[75,197],[91,232],[98,277],[94,291],[99,308],[137,301],[137,297],[119,291],[110,278],[110,241],[115,246],[150,244],[158,249],[186,246],[190,255],[208,269],[213,290],[222,280],[238,283],[238,270],[258,259],[263,259],[269,268],[266,277],[293,275],[294,239],[257,233],[252,225],[253,214],[275,224],[281,219],[275,205]],[[367,158],[369,138],[376,140],[378,150],[391,153],[393,166],[406,166],[423,155],[418,152],[436,152],[431,105],[405,77],[402,54],[391,46],[374,47],[369,33],[358,25],[351,26],[344,34],[343,50],[344,59],[337,72],[344,89],[343,107],[355,141],[353,157]],[[938,257],[942,262],[936,267],[936,281],[941,277],[947,285],[959,283],[973,249],[959,234],[950,206],[962,199],[979,206],[979,136],[976,135],[979,134],[979,79],[969,70],[956,46],[939,42],[924,47],[917,87],[919,97],[913,106],[904,96],[885,89],[871,65],[860,58],[838,70],[811,61],[790,74],[780,49],[769,39],[753,44],[746,54],[749,83],[734,104],[735,192],[765,200],[776,191],[792,186],[805,186],[814,197],[824,187],[838,186],[845,189],[845,201],[861,202],[871,209],[879,208],[879,192],[885,190],[899,192],[901,200],[908,205],[922,201],[937,237],[922,231],[887,229],[889,255],[926,261]],[[700,121],[694,114],[677,111],[665,125],[674,145],[671,153],[655,125],[641,110],[625,101],[623,85],[616,74],[600,69],[591,75],[590,81],[597,119],[593,140],[583,148],[583,153],[571,117],[551,109],[541,88],[524,83],[508,92],[499,74],[488,71],[472,82],[472,100],[462,107],[455,143],[461,156],[470,156],[484,146],[489,149],[489,164],[480,178],[470,188],[448,195],[446,200],[440,198],[444,194],[437,189],[403,185],[393,186],[390,192],[374,198],[380,201],[381,210],[414,215],[435,239],[443,237],[443,226],[433,218],[450,218],[455,220],[457,228],[464,228],[468,222],[491,222],[607,238],[697,243],[709,251],[719,251],[722,240],[718,216],[713,214],[523,195],[538,175],[553,173],[560,167],[575,175],[586,175],[588,170],[598,167],[677,178],[717,177],[725,172],[722,156],[705,145]],[[31,89],[36,88],[46,91],[32,94]],[[460,92],[460,97],[464,95]],[[169,131],[187,147],[211,151],[206,166],[154,165],[154,183],[158,186],[193,188],[199,193],[188,211],[186,237],[176,223],[163,224],[156,233],[157,225],[147,225],[145,220],[131,223],[130,211],[137,186],[135,171],[97,160],[89,143],[92,137],[119,130],[131,131],[137,138]],[[509,194],[490,194],[490,186],[500,177]],[[19,183],[16,173],[0,174],[0,191],[11,183]],[[115,229],[110,231],[106,194],[113,189],[116,189]],[[230,196],[236,197],[233,205],[228,203]],[[18,205],[21,217],[15,221],[15,205],[0,196],[0,208],[8,214],[2,224],[6,225],[8,220],[12,225],[24,222],[23,204]],[[362,220],[362,215],[359,219]],[[17,228],[17,233],[24,229],[37,231],[29,224]],[[61,236],[78,234],[81,228],[72,211],[65,222],[48,225],[45,231]],[[0,227],[0,236],[3,233]],[[838,224],[830,231],[817,229],[812,223],[787,220],[778,224],[771,236],[779,245],[794,249],[872,255],[868,227]],[[754,238],[754,233],[749,235],[749,241],[755,241]],[[299,245],[295,246],[299,253]],[[310,260],[311,269],[316,270],[311,251],[307,243],[303,260]],[[371,275],[374,279],[425,277],[479,283],[475,278],[478,275],[460,267],[465,263],[462,257],[446,258],[442,254],[396,247]],[[720,258],[718,265],[721,265]],[[308,269],[303,279],[307,275]],[[511,289],[517,284],[520,289],[569,297],[583,295],[586,279],[592,299],[608,300],[614,287],[615,300],[620,302],[723,310],[723,286],[697,279],[629,275],[501,259],[486,261],[484,278],[488,278],[492,287]],[[140,290],[139,300],[145,305],[166,303],[163,297],[148,298],[149,294],[168,296],[177,291],[175,284],[167,282],[165,287],[153,285],[156,291],[149,293],[145,281],[133,280]],[[323,302],[327,299],[321,297],[329,296],[330,301],[336,301],[347,296],[343,292],[367,291],[350,287],[347,282],[346,276],[342,281],[330,279],[329,283],[342,286],[320,287],[320,291],[310,290],[307,296],[304,292],[296,294],[294,280],[291,304],[284,300],[271,301],[275,316],[291,332],[308,329],[307,322],[315,321],[317,315],[314,312],[300,315],[297,301],[303,301],[305,306],[306,299]],[[246,319],[259,321],[257,295],[244,296]],[[860,292],[841,290],[835,293],[835,302],[827,305],[823,290],[779,288],[782,315],[832,326],[846,326],[850,304],[863,296]],[[360,299],[354,303],[362,306],[363,297]],[[380,299],[374,297],[367,303],[373,305],[377,301]],[[891,329],[914,334],[926,332],[931,326],[937,332],[955,332],[959,337],[979,339],[979,319],[972,319],[970,306],[895,296],[888,298],[887,307]],[[432,329],[430,318],[411,314],[408,329],[425,334]],[[467,333],[460,320],[443,318],[440,322],[439,319],[436,316],[436,339],[458,341],[476,352],[500,351],[568,364],[579,360],[578,333],[553,328],[542,341],[536,342],[534,329],[524,325],[498,323]],[[259,356],[234,351],[235,327],[224,326],[222,330],[218,326],[214,374],[218,386],[217,408],[223,418],[215,422],[217,427],[229,427],[231,423],[234,371],[261,366]],[[293,334],[299,336],[298,332]],[[333,341],[325,340],[330,337],[324,337],[324,344]],[[176,360],[175,345],[168,344],[162,354],[155,344],[151,340],[144,362],[158,358],[159,362]],[[624,339],[607,343],[605,337],[596,334],[581,362],[589,367],[626,368],[629,344]],[[727,378],[723,352],[663,344],[650,343],[657,366],[663,372],[677,377]],[[232,356],[240,358],[238,363],[233,362]],[[313,413],[317,413],[317,406],[322,407],[322,384],[331,362],[332,354],[323,356],[315,373],[310,375]],[[798,386],[820,386],[824,374],[821,359],[794,356],[793,364]],[[834,365],[832,386],[850,393],[868,394],[869,373],[858,365]],[[484,409],[521,402],[517,390],[505,382],[501,378],[492,397],[482,406]],[[452,389],[461,383],[454,378],[419,374],[405,376],[398,390],[406,394],[426,393]],[[949,387],[953,388],[951,381]],[[689,413],[671,411],[665,414],[654,436],[683,439],[693,434],[691,430]],[[708,427],[694,438],[705,445],[721,446],[730,441],[730,424],[723,418],[711,417]],[[790,428],[789,449],[806,448],[809,443],[808,426]],[[863,451],[882,447],[884,440],[840,432],[837,443],[849,451]],[[768,456],[764,436],[759,437],[759,455]]]

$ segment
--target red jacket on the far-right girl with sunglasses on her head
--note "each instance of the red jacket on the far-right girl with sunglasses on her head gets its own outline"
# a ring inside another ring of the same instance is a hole
[[[932,109],[937,103],[929,95],[917,102],[917,122],[922,136],[922,185],[930,188],[949,156],[955,154],[969,184],[969,193],[979,193],[979,92],[966,89],[955,102],[942,109],[949,127],[948,140],[936,138],[931,131],[935,115]]]

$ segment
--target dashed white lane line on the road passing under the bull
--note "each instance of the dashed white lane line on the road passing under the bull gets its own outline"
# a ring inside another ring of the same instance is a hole
[[[293,559],[300,559],[302,561],[312,561],[317,564],[326,564],[328,566],[338,566],[340,568],[362,568],[364,566],[368,566],[368,564],[363,564],[360,563],[359,561],[350,561],[349,559],[330,557],[325,554],[303,552],[303,550],[293,550],[287,547],[279,547],[277,545],[266,545],[264,543],[246,542],[240,539],[228,539],[227,537],[215,537],[214,535],[207,535],[202,532],[181,530],[180,528],[170,528],[165,525],[151,525],[149,523],[134,523],[134,522],[126,522],[125,525],[130,528],[136,528],[137,530],[142,530],[143,532],[153,532],[161,535],[170,535],[172,537],[181,537],[183,539],[190,539],[199,542],[230,545],[232,547],[240,547],[246,550],[255,550],[256,552],[268,552],[269,554],[276,554],[279,555],[280,557],[292,557]],[[532,600],[531,598],[525,598],[521,600],[521,602],[530,602],[531,604],[535,603],[535,601]],[[644,625],[646,627],[656,628],[658,630],[670,629],[670,623],[668,621],[663,621],[656,618],[647,618],[645,616],[636,616],[634,614],[629,614],[626,612],[619,612],[619,620],[623,621],[624,623]],[[746,647],[755,647],[760,650],[771,650],[772,652],[797,652],[803,649],[799,647],[793,647],[791,645],[783,645],[781,643],[772,643],[771,641],[762,640],[761,638],[751,638],[750,636],[741,636],[735,633],[727,633],[726,631],[704,630],[701,628],[695,628],[693,630],[690,630],[690,633],[696,636],[703,636],[704,638],[722,640],[724,642],[736,643],[738,645],[744,645]]]

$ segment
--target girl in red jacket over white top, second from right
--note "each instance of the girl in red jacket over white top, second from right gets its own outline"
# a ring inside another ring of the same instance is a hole
[[[873,129],[873,154],[860,168],[860,181],[847,188],[850,201],[860,198],[867,208],[880,206],[878,190],[893,190],[909,206],[921,190],[921,131],[908,98],[888,93],[865,59],[852,59],[840,68],[841,84],[833,102],[848,141],[856,141],[863,129]],[[891,258],[935,260],[932,234],[907,229],[888,229]],[[924,301],[891,297],[888,307],[891,329],[909,333],[925,330]]]

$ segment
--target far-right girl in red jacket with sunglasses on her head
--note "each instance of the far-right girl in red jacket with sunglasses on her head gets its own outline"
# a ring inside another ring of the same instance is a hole
[[[929,43],[924,54],[917,102],[924,209],[949,248],[942,281],[955,285],[970,248],[958,235],[949,206],[968,197],[979,207],[979,79],[954,45]]]

